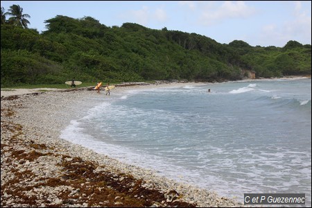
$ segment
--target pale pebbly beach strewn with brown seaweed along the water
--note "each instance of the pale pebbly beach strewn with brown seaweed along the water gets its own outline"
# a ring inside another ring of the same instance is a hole
[[[199,83],[119,86],[128,89]],[[72,119],[101,103],[83,89],[1,90],[1,207],[242,207],[60,139]]]

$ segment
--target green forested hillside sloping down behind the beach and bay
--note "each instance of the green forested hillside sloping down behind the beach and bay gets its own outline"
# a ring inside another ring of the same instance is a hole
[[[1,87],[144,80],[239,80],[311,75],[311,45],[284,47],[220,44],[196,33],[125,23],[107,27],[92,17],[58,15],[47,31],[1,24]]]

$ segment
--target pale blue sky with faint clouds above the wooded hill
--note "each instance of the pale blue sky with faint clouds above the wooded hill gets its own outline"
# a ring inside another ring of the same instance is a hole
[[[156,30],[166,27],[205,35],[220,44],[311,44],[311,1],[1,1],[5,12],[13,4],[31,16],[26,18],[31,22],[28,28],[40,33],[46,31],[44,21],[56,15],[89,16],[109,27],[125,22]]]

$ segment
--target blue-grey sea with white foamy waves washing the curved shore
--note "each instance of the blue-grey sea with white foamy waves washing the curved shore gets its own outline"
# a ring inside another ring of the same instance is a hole
[[[244,193],[305,193],[311,207],[311,78],[142,87],[96,99],[63,139],[239,202]]]

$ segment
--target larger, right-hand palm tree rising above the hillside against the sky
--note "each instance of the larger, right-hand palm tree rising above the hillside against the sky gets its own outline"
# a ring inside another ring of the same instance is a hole
[[[7,15],[11,15],[13,17],[10,17],[8,19],[10,24],[13,24],[15,26],[21,26],[23,28],[28,28],[27,24],[31,24],[28,19],[25,18],[31,18],[28,14],[22,14],[23,8],[21,8],[19,5],[13,4],[8,9],[9,12],[6,12]]]

